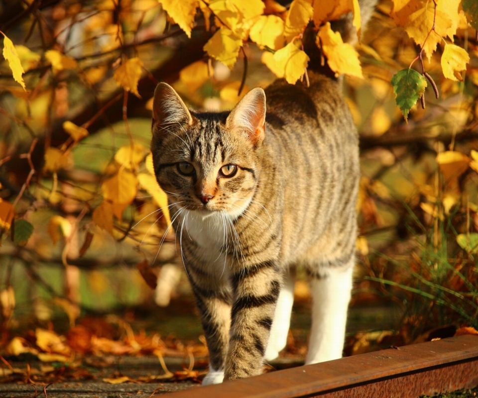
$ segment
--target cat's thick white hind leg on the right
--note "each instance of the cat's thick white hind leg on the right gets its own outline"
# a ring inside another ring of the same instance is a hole
[[[346,266],[311,276],[312,327],[306,365],[342,358],[354,258]]]

